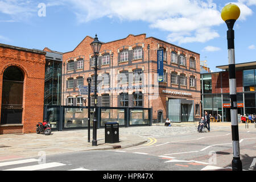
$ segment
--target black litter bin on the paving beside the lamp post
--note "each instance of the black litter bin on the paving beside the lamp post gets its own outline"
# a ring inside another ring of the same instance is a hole
[[[105,123],[105,143],[119,142],[119,124],[117,122]]]

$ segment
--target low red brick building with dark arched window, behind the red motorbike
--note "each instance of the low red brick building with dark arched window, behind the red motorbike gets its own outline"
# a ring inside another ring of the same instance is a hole
[[[0,134],[35,133],[42,122],[45,55],[0,44]]]

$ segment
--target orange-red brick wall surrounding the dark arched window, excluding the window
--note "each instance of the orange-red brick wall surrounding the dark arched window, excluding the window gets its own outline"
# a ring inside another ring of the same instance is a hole
[[[35,133],[36,123],[43,121],[45,60],[44,52],[0,44],[0,103],[5,69],[14,65],[24,73],[23,126],[0,125],[0,134]]]

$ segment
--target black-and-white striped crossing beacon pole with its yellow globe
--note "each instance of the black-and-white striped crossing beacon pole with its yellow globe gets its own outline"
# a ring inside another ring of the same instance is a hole
[[[240,144],[238,133],[238,114],[237,114],[237,84],[236,84],[236,63],[234,55],[234,23],[240,16],[240,9],[237,5],[226,5],[221,11],[221,18],[228,26],[228,54],[229,54],[229,93],[230,93],[230,116],[232,125],[233,140],[233,160],[232,170],[242,171],[240,159]]]

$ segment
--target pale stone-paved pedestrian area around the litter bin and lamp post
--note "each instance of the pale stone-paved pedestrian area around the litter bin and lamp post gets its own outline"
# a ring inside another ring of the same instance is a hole
[[[172,123],[172,130],[176,126],[197,126],[198,122]],[[211,127],[230,126],[230,122],[211,122]],[[240,127],[245,123],[240,123]],[[140,135],[142,130],[151,129],[161,131],[164,123],[153,123],[152,126],[120,127],[119,142],[105,143],[105,129],[97,130],[97,146],[92,146],[92,129],[90,130],[90,142],[88,142],[88,130],[52,131],[51,135],[44,134],[4,134],[0,135],[0,161],[18,158],[29,158],[42,154],[61,154],[64,152],[88,151],[88,150],[113,150],[138,146],[147,142],[147,137]],[[254,128],[254,123],[249,123]],[[176,127],[181,128],[181,127]],[[167,127],[164,127],[166,130]],[[192,128],[192,131],[194,129]],[[168,134],[168,133],[167,133]],[[145,135],[146,136],[146,135]]]

